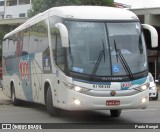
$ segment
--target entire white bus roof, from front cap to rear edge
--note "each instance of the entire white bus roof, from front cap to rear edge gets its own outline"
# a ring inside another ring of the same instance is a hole
[[[126,9],[105,7],[105,6],[61,6],[53,7],[39,13],[28,19],[25,23],[4,36],[4,39],[10,35],[24,30],[25,28],[46,19],[48,16],[59,16],[68,19],[83,20],[138,20],[138,17]]]

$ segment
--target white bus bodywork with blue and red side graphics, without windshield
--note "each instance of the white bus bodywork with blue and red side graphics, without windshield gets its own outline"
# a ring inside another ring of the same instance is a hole
[[[57,108],[67,110],[146,108],[149,103],[149,91],[148,89],[144,91],[138,91],[137,88],[149,83],[147,70],[144,73],[143,77],[138,77],[138,79],[132,78],[131,81],[103,80],[102,82],[97,82],[92,79],[88,81],[78,77],[75,78],[72,76],[72,74],[65,72],[63,66],[59,66],[57,64],[56,55],[59,48],[57,46],[57,43],[60,37],[57,37],[59,35],[59,32],[55,27],[56,23],[63,23],[63,21],[66,19],[73,21],[80,20],[80,22],[99,21],[100,23],[104,21],[109,21],[110,23],[112,23],[112,21],[113,23],[123,23],[123,21],[129,21],[129,23],[132,21],[136,21],[137,23],[139,22],[135,14],[126,10],[104,7],[89,7],[94,12],[96,11],[95,9],[100,10],[97,10],[95,14],[87,12],[86,15],[83,16],[85,14],[84,12],[86,12],[86,10],[88,11],[88,7],[82,7],[84,10],[80,10],[80,8],[81,7],[71,6],[50,9],[29,19],[26,23],[22,24],[4,37],[4,93],[7,96],[11,97],[11,84],[13,83],[13,85],[15,86],[15,94],[17,99],[46,104],[46,90],[48,87],[45,86],[46,84],[47,86],[49,84],[52,91],[53,106]],[[73,12],[73,9],[75,10],[75,12]],[[111,10],[113,12],[111,12]],[[79,14],[81,11],[82,14]],[[107,14],[105,14],[104,11],[107,12]],[[105,27],[106,25],[107,24],[105,23]],[[81,26],[84,26],[84,24],[82,24]],[[136,28],[139,28],[138,24],[136,24]],[[24,34],[21,33],[22,31],[24,32]],[[25,37],[22,42],[23,35]],[[11,45],[13,47],[8,46],[10,41],[12,41]],[[102,39],[102,45],[104,45],[103,41],[104,40]],[[80,41],[80,43],[82,42],[83,41]],[[27,43],[27,46],[24,47],[24,49],[21,49],[21,45],[23,45],[23,43]],[[18,46],[14,47],[14,44],[17,44]],[[114,43],[114,47],[116,47],[116,43]],[[39,48],[42,49],[42,51],[40,51]],[[15,51],[8,54],[8,52],[5,51],[10,51],[9,49],[13,49]],[[29,49],[28,53],[25,51],[27,49]],[[36,52],[34,50],[36,50]],[[66,57],[66,54],[63,54],[63,56]],[[101,56],[98,56],[98,58],[100,57]],[[115,58],[115,61],[117,56],[114,56],[113,58]],[[118,61],[115,61],[114,63],[115,66],[119,67],[119,65],[116,65]],[[147,67],[146,63],[144,64],[144,67]],[[112,68],[114,68],[114,66]],[[70,72],[69,70],[68,72]],[[83,73],[83,69],[79,67],[73,67],[73,70],[74,74],[76,72],[78,72],[78,74]],[[96,76],[95,74],[93,74],[93,72],[92,76]],[[112,73],[114,71],[109,72]],[[127,77],[132,77],[131,73],[126,74]],[[116,79],[116,77],[114,79]],[[82,88],[83,90],[85,89],[86,91],[75,91],[76,86]],[[143,99],[145,99],[144,102],[142,101]],[[111,103],[112,101],[117,101],[119,104],[113,104],[109,106],[106,104],[107,101],[111,101]]]

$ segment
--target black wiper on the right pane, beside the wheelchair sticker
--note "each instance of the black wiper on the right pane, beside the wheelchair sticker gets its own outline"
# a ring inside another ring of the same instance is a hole
[[[114,46],[115,46],[115,52],[116,52],[116,58],[117,58],[117,63],[118,63],[118,57],[119,60],[124,68],[124,70],[126,71],[126,73],[129,75],[130,79],[133,79],[133,74],[131,71],[131,68],[129,67],[129,65],[127,64],[123,54],[121,53],[120,49],[117,49],[117,45],[116,45],[116,41],[114,40]]]

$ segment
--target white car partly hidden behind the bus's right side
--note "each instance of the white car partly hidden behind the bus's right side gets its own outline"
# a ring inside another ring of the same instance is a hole
[[[151,98],[152,100],[158,100],[158,89],[151,73],[149,73],[149,81],[149,98]]]

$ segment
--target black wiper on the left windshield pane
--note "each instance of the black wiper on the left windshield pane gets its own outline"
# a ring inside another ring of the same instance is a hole
[[[103,56],[104,56],[104,62],[105,62],[105,47],[104,47],[103,39],[102,39],[102,44],[103,44],[103,49],[99,52],[98,59],[92,71],[92,78],[95,75]]]

